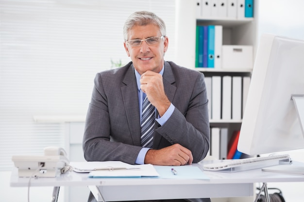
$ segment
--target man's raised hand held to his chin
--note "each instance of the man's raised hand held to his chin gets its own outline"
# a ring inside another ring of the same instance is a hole
[[[147,94],[151,104],[159,115],[163,116],[171,104],[164,90],[163,77],[159,73],[147,71],[141,75],[140,84],[141,90]]]

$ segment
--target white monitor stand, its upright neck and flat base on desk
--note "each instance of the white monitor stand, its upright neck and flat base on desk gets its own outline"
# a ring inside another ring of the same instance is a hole
[[[304,95],[292,95],[291,99],[297,110],[303,138],[304,138]],[[302,165],[301,165],[302,164]],[[304,164],[301,162],[262,168],[262,171],[281,172],[289,174],[304,174]]]

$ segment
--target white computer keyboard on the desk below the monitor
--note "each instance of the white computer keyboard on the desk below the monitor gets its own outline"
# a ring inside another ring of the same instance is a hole
[[[219,163],[204,164],[203,170],[222,172],[248,171],[253,169],[276,166],[280,164],[288,164],[290,162],[291,160],[288,154],[269,155],[263,157],[223,160]]]

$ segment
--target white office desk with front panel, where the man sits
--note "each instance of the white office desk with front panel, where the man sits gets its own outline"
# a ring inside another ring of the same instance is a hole
[[[203,162],[192,166],[199,166],[202,169],[202,165]],[[70,172],[56,178],[33,178],[31,186],[54,186],[55,192],[59,191],[60,186],[88,186],[98,201],[133,201],[244,197],[255,194],[253,183],[304,182],[302,175],[265,172],[261,169],[235,173],[214,171],[204,171],[204,173],[210,180],[146,177],[93,179],[88,178],[86,173]],[[28,182],[29,178],[17,176],[17,169],[12,171],[11,186],[28,186]]]

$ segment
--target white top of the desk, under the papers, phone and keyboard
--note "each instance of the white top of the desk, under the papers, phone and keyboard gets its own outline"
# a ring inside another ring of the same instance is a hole
[[[203,171],[204,161],[186,165],[198,166]],[[298,163],[303,164],[304,163]],[[108,185],[151,185],[151,184],[238,184],[238,183],[260,183],[260,182],[304,182],[304,175],[285,174],[276,172],[261,171],[255,169],[251,171],[240,171],[225,173],[218,171],[203,171],[210,180],[195,179],[160,179],[154,177],[142,178],[88,178],[87,173],[68,172],[56,178],[32,179],[31,186],[100,186]],[[18,177],[17,169],[14,168],[11,175],[11,186],[28,186],[29,178]]]

